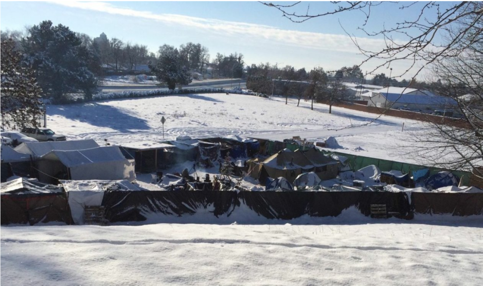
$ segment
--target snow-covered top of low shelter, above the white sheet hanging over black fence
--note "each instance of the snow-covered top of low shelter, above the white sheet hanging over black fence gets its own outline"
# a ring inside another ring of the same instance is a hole
[[[128,180],[61,180],[65,192],[90,190],[94,192],[111,192],[113,190],[141,190]]]

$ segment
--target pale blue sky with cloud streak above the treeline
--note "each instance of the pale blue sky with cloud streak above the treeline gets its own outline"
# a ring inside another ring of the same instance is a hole
[[[313,12],[333,9],[330,3],[302,3],[298,10],[310,5]],[[416,17],[418,7],[401,11],[388,4],[373,8],[367,24],[369,30],[380,29],[384,23],[394,23]],[[360,12],[316,18],[295,24],[282,18],[276,9],[258,2],[2,2],[0,29],[22,30],[43,20],[63,24],[75,32],[96,37],[102,32],[123,41],[147,45],[157,51],[163,44],[179,46],[197,42],[210,50],[211,57],[219,52],[241,52],[247,64],[270,62],[287,64],[307,70],[315,66],[326,70],[359,64],[363,57],[341,25],[355,35],[364,47],[377,49],[382,40],[367,38],[357,30],[365,16]],[[339,22],[341,24],[339,24]],[[362,70],[374,68],[369,62]],[[393,67],[393,75],[403,72],[407,63]],[[379,72],[388,73],[381,68]],[[410,78],[412,74],[405,76]]]

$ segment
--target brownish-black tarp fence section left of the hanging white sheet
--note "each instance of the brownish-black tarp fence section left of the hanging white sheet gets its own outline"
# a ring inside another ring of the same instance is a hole
[[[1,224],[30,224],[58,222],[72,224],[66,193],[2,195]]]

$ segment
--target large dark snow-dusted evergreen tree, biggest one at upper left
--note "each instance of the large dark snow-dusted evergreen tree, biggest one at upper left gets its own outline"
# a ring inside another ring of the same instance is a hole
[[[97,87],[99,57],[61,24],[52,26],[51,21],[43,21],[29,33],[22,41],[25,61],[36,70],[44,96],[61,100],[66,93],[82,91],[91,99]]]

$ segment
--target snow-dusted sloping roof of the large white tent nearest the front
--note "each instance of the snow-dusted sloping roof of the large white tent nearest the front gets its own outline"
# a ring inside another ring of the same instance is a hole
[[[126,160],[118,146],[97,147],[73,151],[53,150],[42,156],[42,159],[58,159],[62,164],[69,168],[97,162]]]

